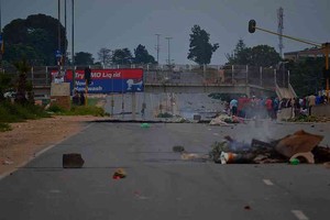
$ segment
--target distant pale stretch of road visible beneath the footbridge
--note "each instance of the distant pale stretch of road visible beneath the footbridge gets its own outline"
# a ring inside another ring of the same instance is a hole
[[[194,114],[200,114],[202,119],[213,117],[221,112],[224,106],[221,100],[208,97],[209,94],[174,94],[174,92],[136,92],[135,102],[132,94],[109,95],[106,99],[105,110],[120,120],[132,120],[132,112],[135,106],[135,119],[160,120],[158,113],[168,112],[173,116],[180,116],[188,120]],[[113,100],[113,107],[111,106]],[[141,114],[142,105],[145,103],[144,117]],[[162,105],[162,109],[160,106]]]

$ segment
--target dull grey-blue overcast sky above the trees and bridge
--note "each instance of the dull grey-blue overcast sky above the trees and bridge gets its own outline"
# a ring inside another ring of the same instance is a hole
[[[57,0],[1,0],[2,26],[12,20],[44,13],[57,18]],[[62,23],[64,24],[64,0]],[[189,34],[194,24],[219,43],[211,64],[224,64],[239,38],[246,46],[267,44],[278,51],[278,36],[248,32],[251,19],[263,29],[277,32],[277,9],[284,9],[284,34],[324,43],[330,42],[329,0],[75,0],[75,52],[94,54],[101,47],[145,45],[156,58],[156,35],[161,35],[160,63],[168,56],[166,36],[170,40],[170,58],[176,64],[187,59]],[[67,25],[70,51],[72,0],[67,0]],[[284,52],[304,50],[309,45],[284,38]]]

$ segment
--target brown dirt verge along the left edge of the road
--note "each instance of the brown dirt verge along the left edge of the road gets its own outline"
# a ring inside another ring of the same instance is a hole
[[[0,175],[14,170],[43,148],[81,131],[90,121],[103,118],[53,117],[12,123],[12,131],[0,132]]]

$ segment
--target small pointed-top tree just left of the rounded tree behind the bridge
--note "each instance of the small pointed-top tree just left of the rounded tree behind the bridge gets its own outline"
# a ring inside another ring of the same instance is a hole
[[[232,54],[226,54],[229,65],[248,65],[251,59],[251,48],[246,47],[242,38],[239,40]]]

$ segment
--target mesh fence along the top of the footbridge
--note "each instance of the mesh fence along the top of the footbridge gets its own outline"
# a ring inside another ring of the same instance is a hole
[[[57,66],[35,66],[26,73],[33,86],[50,86],[51,72]],[[84,68],[82,66],[75,67]],[[90,66],[92,69],[103,66]],[[284,69],[263,68],[246,65],[112,65],[105,68],[143,68],[145,85],[178,85],[178,86],[226,86],[253,85],[274,89],[288,87],[288,72]],[[70,67],[68,67],[70,69]],[[4,73],[18,74],[15,69],[4,69]],[[276,82],[276,84],[275,84]]]

